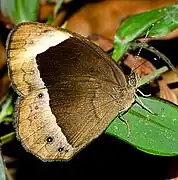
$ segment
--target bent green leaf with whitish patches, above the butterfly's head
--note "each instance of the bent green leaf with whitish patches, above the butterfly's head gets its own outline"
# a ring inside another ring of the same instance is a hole
[[[121,59],[129,43],[135,39],[144,35],[162,36],[176,29],[178,27],[177,9],[178,5],[167,6],[140,13],[125,20],[116,32],[113,59],[116,61]]]

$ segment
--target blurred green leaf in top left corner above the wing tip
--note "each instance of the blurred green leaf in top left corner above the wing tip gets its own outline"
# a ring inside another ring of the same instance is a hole
[[[13,23],[37,21],[39,12],[38,0],[1,0],[1,11]]]

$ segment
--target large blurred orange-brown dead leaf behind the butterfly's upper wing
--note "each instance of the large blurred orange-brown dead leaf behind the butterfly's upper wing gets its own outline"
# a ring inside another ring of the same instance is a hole
[[[90,3],[75,13],[67,23],[67,29],[83,36],[100,34],[114,38],[116,29],[123,19],[144,11],[172,5],[177,0],[109,0]]]

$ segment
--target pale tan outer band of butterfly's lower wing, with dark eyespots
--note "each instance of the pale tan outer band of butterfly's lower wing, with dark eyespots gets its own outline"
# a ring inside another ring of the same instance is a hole
[[[74,154],[51,112],[47,89],[33,91],[18,104],[18,136],[28,151],[42,160],[69,159]]]

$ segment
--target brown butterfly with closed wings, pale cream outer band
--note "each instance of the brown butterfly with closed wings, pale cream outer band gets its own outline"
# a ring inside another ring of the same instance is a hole
[[[135,80],[86,38],[41,23],[21,23],[7,41],[19,94],[16,131],[44,161],[69,160],[134,102]]]

